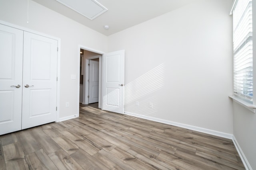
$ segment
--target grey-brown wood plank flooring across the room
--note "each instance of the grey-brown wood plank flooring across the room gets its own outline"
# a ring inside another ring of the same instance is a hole
[[[244,170],[232,140],[80,105],[80,117],[0,136],[0,170]]]

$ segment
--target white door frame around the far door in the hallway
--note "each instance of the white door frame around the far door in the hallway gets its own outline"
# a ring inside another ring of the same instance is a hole
[[[101,72],[101,64],[100,64],[100,60],[102,59],[102,55],[96,55],[96,56],[93,56],[93,57],[89,57],[88,59],[85,59],[85,72],[84,72],[84,84],[85,86],[83,86],[83,90],[84,90],[84,95],[83,95],[83,104],[89,104],[89,99],[86,98],[86,96],[89,95],[89,84],[86,80],[89,80],[89,60],[92,60],[92,59],[99,59],[99,106],[101,106],[101,79],[102,79],[102,72]],[[101,107],[99,107],[101,108]]]

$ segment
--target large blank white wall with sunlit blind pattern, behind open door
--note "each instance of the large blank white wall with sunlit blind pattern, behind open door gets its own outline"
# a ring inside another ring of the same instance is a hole
[[[126,113],[233,133],[231,6],[200,0],[108,37],[126,51]]]

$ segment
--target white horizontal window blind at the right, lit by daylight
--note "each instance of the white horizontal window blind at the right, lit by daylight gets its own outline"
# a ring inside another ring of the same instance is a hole
[[[252,0],[237,0],[233,9],[234,94],[252,101]]]

